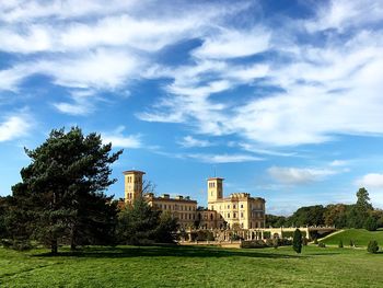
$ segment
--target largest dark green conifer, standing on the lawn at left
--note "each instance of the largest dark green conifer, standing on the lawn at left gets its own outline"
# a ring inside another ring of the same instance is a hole
[[[68,240],[72,247],[104,242],[114,230],[116,207],[103,192],[116,182],[109,165],[123,153],[111,151],[112,143],[103,145],[95,133],[84,136],[79,127],[55,129],[43,145],[25,149],[32,163],[12,192],[27,239],[50,246],[51,253]]]

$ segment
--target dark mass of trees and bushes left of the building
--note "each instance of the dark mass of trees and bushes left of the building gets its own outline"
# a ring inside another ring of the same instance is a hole
[[[177,219],[152,210],[143,199],[119,205],[105,191],[116,182],[111,165],[123,150],[112,152],[97,134],[79,127],[55,129],[34,150],[12,195],[0,197],[0,239],[14,249],[60,245],[142,244],[173,242]]]

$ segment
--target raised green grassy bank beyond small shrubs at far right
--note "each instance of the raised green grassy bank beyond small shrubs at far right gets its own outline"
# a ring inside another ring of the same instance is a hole
[[[347,229],[340,233],[329,235],[321,242],[338,245],[340,240],[343,240],[345,246],[349,245],[350,240],[355,241],[357,246],[367,246],[370,240],[376,240],[379,244],[383,245],[383,231],[370,232],[364,229]]]

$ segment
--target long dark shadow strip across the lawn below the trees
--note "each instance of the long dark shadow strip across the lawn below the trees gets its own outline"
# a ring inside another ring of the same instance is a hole
[[[63,251],[58,255],[50,253],[34,254],[38,257],[70,256],[94,258],[131,258],[131,257],[255,257],[255,258],[305,258],[306,255],[259,252],[258,250],[234,250],[201,246],[116,246],[84,247],[80,251]]]

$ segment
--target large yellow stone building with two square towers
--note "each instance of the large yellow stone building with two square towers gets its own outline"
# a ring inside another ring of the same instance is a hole
[[[208,178],[208,208],[197,209],[197,201],[188,196],[171,198],[169,194],[155,197],[142,195],[144,172],[125,171],[125,201],[131,204],[144,197],[153,209],[169,211],[178,218],[184,228],[199,226],[205,229],[257,229],[265,227],[265,199],[251,197],[248,193],[233,193],[223,197],[223,178]]]

